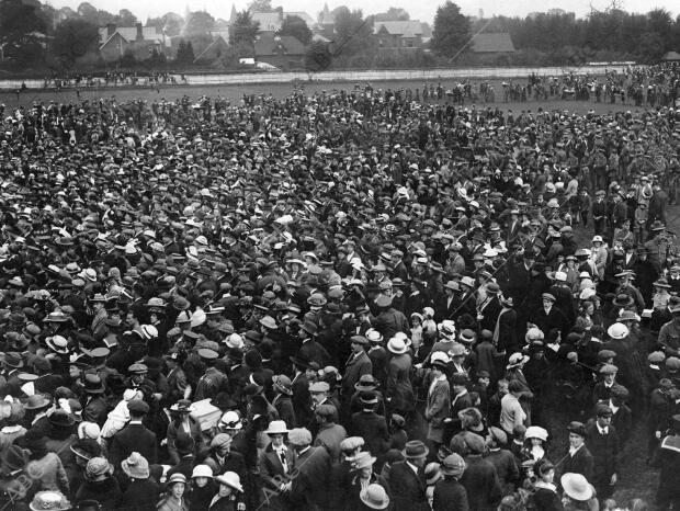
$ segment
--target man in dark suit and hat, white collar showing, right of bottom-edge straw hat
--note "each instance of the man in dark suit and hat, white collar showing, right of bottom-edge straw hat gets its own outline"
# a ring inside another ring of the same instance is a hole
[[[428,447],[419,441],[406,443],[403,462],[392,465],[388,476],[395,511],[424,511],[429,509],[426,496],[424,462]]]

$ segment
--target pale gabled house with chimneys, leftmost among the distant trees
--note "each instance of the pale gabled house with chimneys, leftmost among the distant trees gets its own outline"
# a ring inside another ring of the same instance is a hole
[[[154,50],[166,53],[169,45],[162,32],[156,26],[116,26],[109,23],[99,29],[99,52],[107,63],[120,60],[126,53],[132,53],[137,60],[146,60]]]

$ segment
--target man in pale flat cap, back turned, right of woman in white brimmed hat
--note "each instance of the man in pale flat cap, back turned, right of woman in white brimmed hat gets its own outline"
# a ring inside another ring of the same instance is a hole
[[[311,433],[305,428],[288,432],[288,443],[295,450],[297,475],[290,482],[290,497],[294,509],[321,511],[329,507],[330,474],[332,464],[328,451],[311,447]]]

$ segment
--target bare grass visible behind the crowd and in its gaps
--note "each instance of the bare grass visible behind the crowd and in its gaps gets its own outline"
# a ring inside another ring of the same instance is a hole
[[[525,80],[520,80],[521,82],[525,82]],[[452,82],[442,80],[442,84],[446,87],[451,87]],[[411,89],[421,89],[422,82],[420,81],[383,81],[373,83],[375,89],[400,89],[400,88],[411,88]],[[308,93],[314,91],[332,91],[332,90],[352,90],[352,83],[306,83],[305,90]],[[500,81],[495,82],[495,89],[497,91],[497,96],[499,95],[499,91],[501,90]],[[181,98],[186,94],[192,99],[195,99],[200,95],[207,95],[209,98],[215,98],[218,95],[229,98],[233,102],[238,101],[243,93],[256,93],[256,94],[273,94],[276,98],[283,98],[290,94],[293,91],[293,86],[290,83],[277,83],[277,84],[260,84],[260,86],[249,86],[248,88],[243,88],[242,86],[199,86],[199,87],[161,87],[159,90],[157,89],[105,89],[105,90],[82,90],[80,92],[80,99],[89,99],[97,100],[99,98],[115,98],[117,101],[126,101],[132,99],[144,99],[148,102],[154,100],[174,100],[177,98]],[[38,90],[29,90],[20,94],[19,99],[15,93],[10,92],[0,92],[0,103],[4,103],[8,107],[15,107],[20,104],[30,105],[33,101],[57,101],[57,102],[77,102],[78,98],[76,95],[76,91],[67,90],[61,92],[55,91],[38,91]],[[466,102],[466,106],[469,106],[469,102]],[[627,104],[608,104],[608,103],[594,103],[594,102],[574,102],[574,101],[547,101],[547,102],[535,102],[529,101],[525,103],[505,103],[502,101],[498,101],[495,103],[478,103],[481,106],[498,106],[501,110],[512,110],[513,112],[520,111],[533,111],[535,112],[540,106],[544,110],[559,110],[559,111],[569,111],[576,113],[586,113],[589,110],[594,110],[598,114],[605,114],[609,112],[616,111],[641,111],[642,109],[636,109],[633,105]],[[678,206],[673,206],[668,212],[669,220],[669,229],[671,230],[680,230],[680,220],[678,217],[680,209]],[[577,229],[576,236],[580,246],[588,246],[590,242],[590,237],[592,236],[591,230]],[[566,424],[575,420],[574,417],[567,417],[566,413],[560,408],[559,404],[556,404],[555,408],[549,411],[549,424],[548,430],[551,431],[551,438],[548,441],[548,454],[553,462],[562,458],[567,452],[567,431]],[[644,422],[645,417],[638,416],[637,424],[635,427],[635,432],[633,438],[630,441],[628,446],[626,447],[626,452],[624,453],[622,461],[622,470],[619,475],[620,482],[617,485],[616,492],[614,495],[614,499],[616,500],[620,507],[625,507],[630,503],[630,500],[633,498],[642,498],[645,499],[648,503],[654,502],[654,493],[656,491],[657,485],[657,474],[656,472],[649,469],[646,466],[646,445],[647,440],[644,431]],[[420,429],[424,424],[417,425],[417,429]]]

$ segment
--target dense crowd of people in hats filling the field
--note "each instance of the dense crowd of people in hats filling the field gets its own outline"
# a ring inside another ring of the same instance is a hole
[[[2,509],[680,504],[680,111],[0,120]]]

